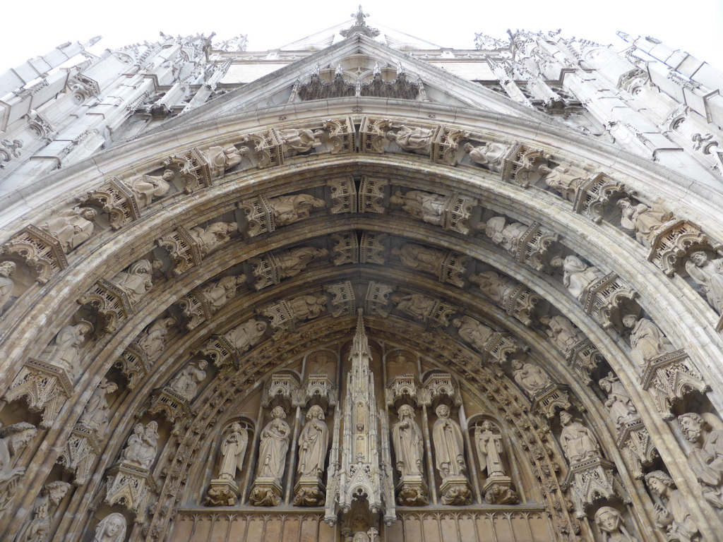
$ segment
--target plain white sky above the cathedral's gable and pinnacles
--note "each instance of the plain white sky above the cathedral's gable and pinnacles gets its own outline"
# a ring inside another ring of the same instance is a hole
[[[66,41],[103,40],[100,52],[171,35],[249,36],[265,51],[351,18],[358,0],[7,0],[2,8],[0,73]],[[474,48],[474,33],[505,38],[508,28],[555,30],[622,46],[615,30],[650,35],[723,69],[723,0],[364,0],[378,22],[443,47]],[[215,38],[216,39],[216,38]]]

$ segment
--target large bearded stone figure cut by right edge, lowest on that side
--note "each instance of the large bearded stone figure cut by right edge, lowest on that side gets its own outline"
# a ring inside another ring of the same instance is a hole
[[[703,416],[692,412],[681,414],[677,420],[690,442],[688,463],[701,483],[703,497],[723,509],[723,429],[713,430]]]

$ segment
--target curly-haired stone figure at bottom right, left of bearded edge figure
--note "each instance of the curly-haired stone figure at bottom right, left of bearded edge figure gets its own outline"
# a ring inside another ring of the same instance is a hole
[[[667,501],[665,507],[655,503],[656,525],[667,530],[667,539],[670,542],[700,542],[701,535],[690,515],[688,501],[675,487],[672,478],[662,470],[654,470],[645,475],[645,481],[650,491]]]

